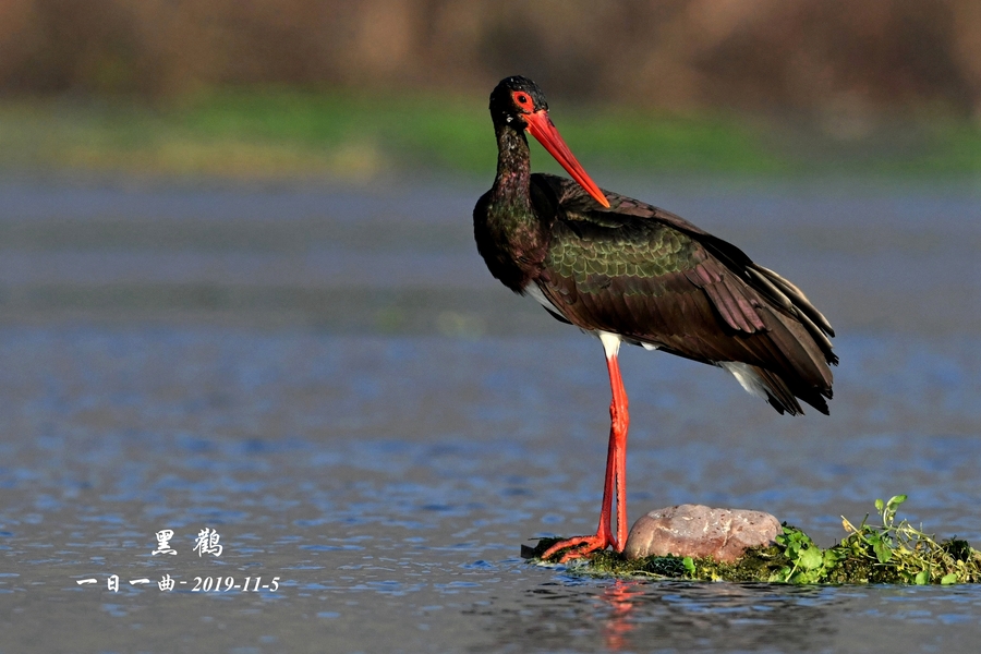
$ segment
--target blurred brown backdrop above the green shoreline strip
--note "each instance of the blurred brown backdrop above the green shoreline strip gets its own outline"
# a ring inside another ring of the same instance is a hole
[[[685,111],[981,114],[974,0],[0,0],[0,90],[487,93]]]

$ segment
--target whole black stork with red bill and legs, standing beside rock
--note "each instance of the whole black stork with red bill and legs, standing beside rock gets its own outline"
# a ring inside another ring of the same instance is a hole
[[[602,191],[548,117],[538,86],[507,77],[491,94],[497,177],[473,210],[491,274],[557,319],[600,338],[613,401],[603,508],[596,533],[543,555],[561,560],[627,540],[627,393],[620,343],[662,350],[730,372],[779,413],[827,414],[834,330],[804,294],[741,250],[664,209]],[[534,136],[572,175],[531,172]],[[611,524],[616,511],[616,533]]]

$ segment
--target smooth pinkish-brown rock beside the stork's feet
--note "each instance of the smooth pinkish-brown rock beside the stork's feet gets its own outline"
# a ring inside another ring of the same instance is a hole
[[[680,505],[642,516],[627,536],[628,559],[645,556],[690,556],[732,562],[750,547],[774,543],[783,531],[770,513]]]

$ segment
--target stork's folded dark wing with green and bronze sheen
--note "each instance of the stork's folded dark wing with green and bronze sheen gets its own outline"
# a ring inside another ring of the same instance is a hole
[[[835,358],[798,304],[826,320],[802,293],[766,279],[789,282],[667,211],[616,194],[602,209],[571,181],[534,181],[559,207],[536,281],[566,319],[705,363],[754,366],[778,376],[775,392],[791,411],[794,396],[826,410]]]

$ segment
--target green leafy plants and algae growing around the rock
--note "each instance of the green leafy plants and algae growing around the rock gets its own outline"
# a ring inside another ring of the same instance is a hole
[[[888,501],[875,500],[881,525],[869,524],[868,514],[858,526],[843,517],[848,535],[826,549],[799,529],[784,523],[776,544],[749,549],[731,564],[676,556],[627,560],[614,552],[598,552],[573,569],[596,577],[795,584],[981,582],[981,552],[967,541],[937,542],[906,520],[896,522],[896,511],[905,500],[905,495]],[[528,553],[529,558],[550,562],[540,557],[556,542],[557,538],[538,541]]]

